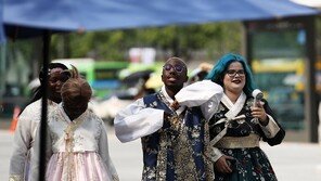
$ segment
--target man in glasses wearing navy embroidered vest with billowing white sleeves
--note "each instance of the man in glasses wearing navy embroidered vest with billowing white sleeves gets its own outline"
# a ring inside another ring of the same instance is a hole
[[[209,80],[183,88],[187,75],[185,63],[170,57],[163,66],[162,89],[138,99],[114,119],[121,142],[141,139],[144,181],[213,178],[206,125],[217,111],[222,88]]]

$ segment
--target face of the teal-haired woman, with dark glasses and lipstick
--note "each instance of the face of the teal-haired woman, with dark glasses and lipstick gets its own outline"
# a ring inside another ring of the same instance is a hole
[[[224,92],[241,94],[246,82],[245,76],[243,65],[240,62],[232,62],[223,77]]]

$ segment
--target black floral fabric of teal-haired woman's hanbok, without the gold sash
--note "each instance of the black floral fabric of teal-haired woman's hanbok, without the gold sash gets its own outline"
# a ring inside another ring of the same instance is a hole
[[[264,100],[264,107],[269,116],[277,122],[280,127],[279,131],[273,138],[267,138],[262,126],[257,119],[251,115],[251,106],[253,105],[253,98],[246,98],[242,103],[241,108],[237,109],[239,113],[234,113],[236,116],[242,116],[243,119],[232,121],[228,124],[227,132],[224,137],[232,138],[244,138],[249,134],[258,135],[262,141],[268,142],[270,145],[275,145],[282,142],[285,132],[277,121],[268,103]],[[234,105],[235,106],[235,105]],[[239,105],[240,106],[240,105]],[[235,109],[235,107],[233,107]],[[226,127],[224,122],[219,122],[221,119],[226,118],[228,112],[232,107],[227,106],[224,103],[220,103],[219,111],[215,114],[213,119],[209,121],[209,132],[210,139],[218,135]],[[235,117],[236,117],[235,116]],[[271,120],[270,120],[271,121]],[[277,127],[278,127],[277,126]],[[273,168],[260,147],[218,147],[221,153],[228,156],[232,156],[236,159],[235,166],[232,173],[223,174],[215,171],[215,181],[275,181],[277,176]]]

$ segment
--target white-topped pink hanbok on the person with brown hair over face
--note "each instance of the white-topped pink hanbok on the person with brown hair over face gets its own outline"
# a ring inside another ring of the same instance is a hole
[[[92,112],[87,109],[72,121],[59,105],[48,117],[47,143],[47,181],[119,180],[110,157],[104,122]],[[36,155],[31,180],[38,179]]]

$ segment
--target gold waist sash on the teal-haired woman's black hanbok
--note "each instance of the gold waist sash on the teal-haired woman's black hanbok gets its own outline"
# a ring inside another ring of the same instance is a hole
[[[223,137],[216,144],[219,148],[259,147],[260,137],[252,133],[247,137]]]

